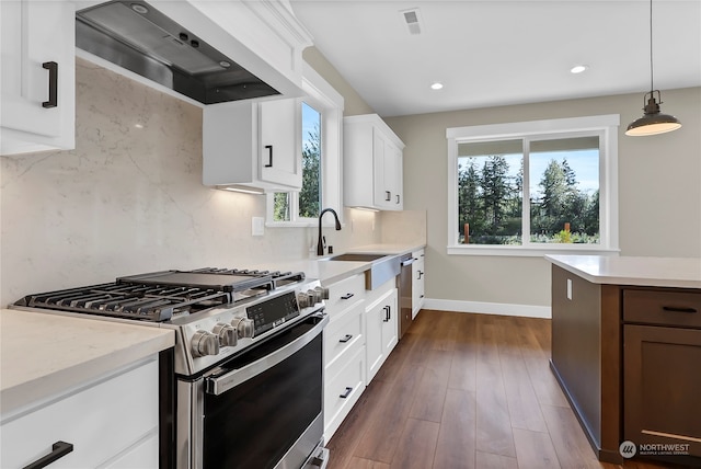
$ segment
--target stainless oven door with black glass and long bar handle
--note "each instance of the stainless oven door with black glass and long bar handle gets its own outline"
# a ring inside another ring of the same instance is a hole
[[[179,382],[179,434],[189,428],[188,443],[179,436],[179,468],[301,468],[323,438],[327,322],[313,314],[212,374]]]

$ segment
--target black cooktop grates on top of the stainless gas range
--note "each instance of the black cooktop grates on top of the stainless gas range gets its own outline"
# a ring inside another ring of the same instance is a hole
[[[264,295],[303,278],[301,272],[212,267],[163,271],[119,277],[115,283],[28,295],[15,305],[162,322]]]

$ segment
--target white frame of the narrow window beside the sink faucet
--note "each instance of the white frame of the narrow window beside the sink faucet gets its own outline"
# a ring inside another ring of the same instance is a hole
[[[321,208],[333,208],[343,222],[342,149],[344,99],[307,62],[303,64],[302,68],[302,91],[304,95],[298,99],[299,118],[301,119],[302,102],[321,113],[321,199],[323,202]],[[271,228],[318,226],[318,218],[302,218],[299,216],[299,191],[290,191],[289,194],[290,219],[285,221],[274,219],[274,193],[266,194],[265,226]]]

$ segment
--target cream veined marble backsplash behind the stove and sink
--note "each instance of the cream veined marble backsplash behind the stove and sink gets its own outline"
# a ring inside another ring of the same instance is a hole
[[[3,306],[140,272],[310,255],[315,228],[253,237],[265,197],[203,186],[199,107],[82,59],[76,80],[76,149],[0,158]],[[381,214],[344,216],[324,231],[336,252],[382,241]],[[410,225],[425,239],[423,224]]]

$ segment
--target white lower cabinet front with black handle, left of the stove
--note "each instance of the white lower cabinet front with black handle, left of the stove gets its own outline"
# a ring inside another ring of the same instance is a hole
[[[41,386],[41,385],[37,385]],[[72,451],[51,469],[157,468],[158,357],[67,394],[3,415],[0,467],[21,468],[66,442]]]

